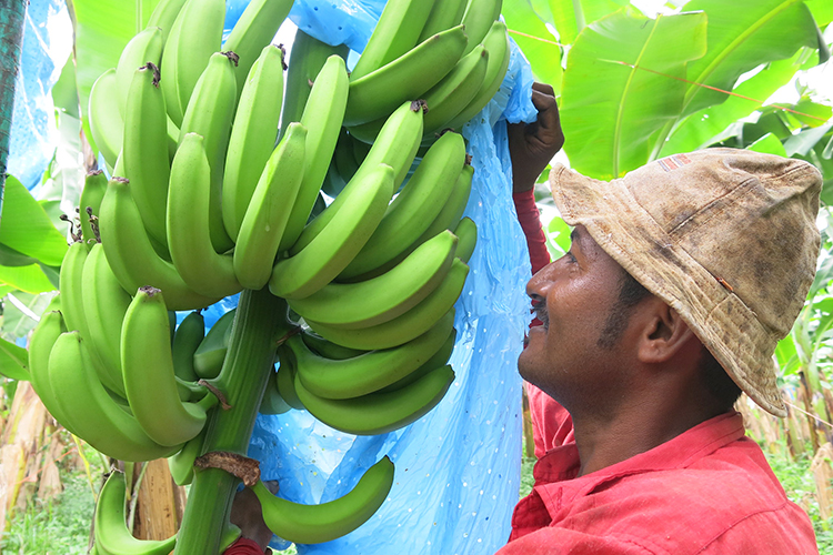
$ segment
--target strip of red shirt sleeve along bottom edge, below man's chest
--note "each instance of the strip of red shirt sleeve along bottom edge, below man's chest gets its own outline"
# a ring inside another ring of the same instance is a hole
[[[542,528],[510,542],[495,555],[655,555],[615,536],[594,536],[574,529]]]

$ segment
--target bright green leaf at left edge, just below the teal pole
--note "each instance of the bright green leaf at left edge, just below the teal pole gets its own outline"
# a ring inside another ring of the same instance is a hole
[[[67,240],[26,186],[12,175],[6,180],[0,216],[0,243],[51,266],[61,265]]]

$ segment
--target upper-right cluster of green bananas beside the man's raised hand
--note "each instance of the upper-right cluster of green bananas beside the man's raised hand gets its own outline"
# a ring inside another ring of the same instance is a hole
[[[459,129],[500,88],[509,68],[502,0],[390,0],[350,74],[344,125],[372,143],[404,100],[428,105],[424,139]]]

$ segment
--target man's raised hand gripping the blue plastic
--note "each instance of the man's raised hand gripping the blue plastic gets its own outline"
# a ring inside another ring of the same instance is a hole
[[[532,103],[538,109],[538,121],[508,125],[514,193],[535,186],[535,180],[564,145],[564,132],[552,87],[533,83]]]

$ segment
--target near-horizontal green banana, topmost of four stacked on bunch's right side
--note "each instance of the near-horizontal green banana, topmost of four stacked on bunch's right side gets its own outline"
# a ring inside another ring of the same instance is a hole
[[[330,283],[310,296],[290,301],[290,306],[304,320],[330,326],[358,329],[388,322],[416,306],[442,283],[455,248],[453,233],[439,233],[383,275],[358,283]]]

